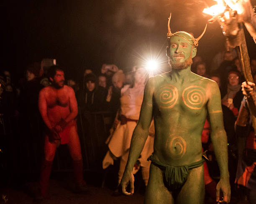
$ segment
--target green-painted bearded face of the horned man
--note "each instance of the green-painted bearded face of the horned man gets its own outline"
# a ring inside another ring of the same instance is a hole
[[[187,39],[192,39],[189,35],[179,33]],[[172,36],[169,40],[169,65],[175,70],[183,70],[192,64],[192,48],[189,44],[192,40],[185,40],[180,36]]]

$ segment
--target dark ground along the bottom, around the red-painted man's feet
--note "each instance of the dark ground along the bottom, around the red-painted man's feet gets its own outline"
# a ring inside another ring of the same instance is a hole
[[[90,194],[81,195],[72,192],[72,174],[70,172],[54,172],[51,175],[49,185],[49,198],[45,199],[41,204],[143,204],[144,187],[143,182],[136,184],[136,192],[133,196],[113,197],[113,185],[111,187],[109,179],[112,173],[106,174],[105,186],[102,185],[102,172],[85,172],[84,177],[90,189]],[[138,177],[138,176],[137,176]],[[17,179],[16,179],[17,180]],[[21,179],[22,180],[22,179]],[[137,180],[140,180],[138,177]],[[0,194],[6,195],[8,201],[6,204],[33,204],[33,192],[37,189],[37,182],[19,182],[19,184],[10,182],[12,187],[1,188]],[[247,202],[237,202],[233,199],[231,204],[247,204]],[[0,198],[0,204],[4,204],[3,198]],[[206,197],[205,204],[213,202]]]

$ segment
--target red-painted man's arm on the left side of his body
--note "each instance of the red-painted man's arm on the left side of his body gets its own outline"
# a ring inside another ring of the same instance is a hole
[[[38,98],[38,108],[41,113],[41,116],[44,120],[44,123],[49,129],[53,129],[53,126],[51,125],[51,122],[47,116],[47,102],[46,102],[46,90],[42,89],[39,92],[39,98]]]

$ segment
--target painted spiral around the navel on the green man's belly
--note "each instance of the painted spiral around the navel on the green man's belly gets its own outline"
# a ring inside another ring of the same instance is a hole
[[[172,157],[181,159],[187,151],[187,143],[180,136],[170,137],[166,142],[167,149],[169,149]]]

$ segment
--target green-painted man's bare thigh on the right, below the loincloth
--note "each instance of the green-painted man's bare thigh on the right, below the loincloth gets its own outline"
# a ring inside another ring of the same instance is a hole
[[[204,166],[189,170],[187,181],[177,196],[177,204],[202,204],[205,197]]]

